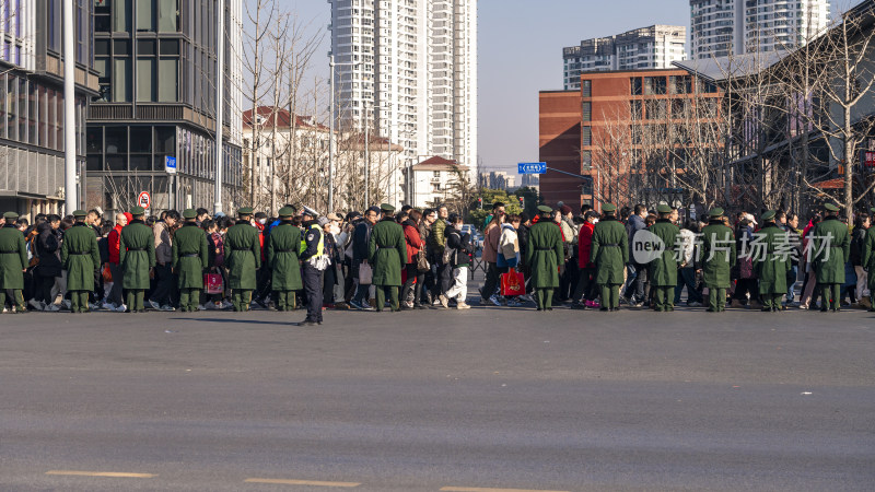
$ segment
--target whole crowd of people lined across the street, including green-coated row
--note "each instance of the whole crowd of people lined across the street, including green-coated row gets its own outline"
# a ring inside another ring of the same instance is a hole
[[[875,229],[866,213],[849,226],[831,204],[800,230],[784,211],[758,221],[714,209],[680,223],[665,204],[604,203],[600,213],[584,206],[579,214],[541,206],[529,216],[494,203],[480,258],[476,232],[444,206],[383,204],[345,216],[285,206],[275,218],[250,208],[147,216],[137,207],[114,219],[77,210],[30,224],[5,213],[3,313],[305,308],[300,325],[320,325],[325,309],[467,309],[475,263],[487,306],[670,312],[685,298],[709,312],[872,308]]]

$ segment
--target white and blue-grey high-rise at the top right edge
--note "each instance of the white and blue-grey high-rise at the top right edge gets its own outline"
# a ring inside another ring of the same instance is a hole
[[[829,0],[690,0],[691,58],[792,49],[829,23]]]

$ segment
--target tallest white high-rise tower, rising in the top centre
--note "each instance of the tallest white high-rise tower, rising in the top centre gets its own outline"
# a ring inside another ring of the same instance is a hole
[[[477,0],[328,1],[341,126],[475,166]]]

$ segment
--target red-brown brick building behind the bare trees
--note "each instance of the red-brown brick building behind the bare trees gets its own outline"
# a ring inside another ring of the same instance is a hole
[[[711,102],[719,108],[720,97],[715,87],[697,82],[685,70],[587,72],[581,75],[580,91],[541,92],[540,161],[590,177],[579,179],[548,171],[540,179],[545,201],[550,206],[562,201],[572,208],[591,203],[596,209],[604,201],[619,206],[670,201],[673,195],[681,194],[670,183],[672,174],[682,173],[682,163],[674,162],[679,152],[667,152],[673,154],[667,160],[672,173],[654,172],[656,167],[645,162],[652,162],[654,145],[677,143],[666,138],[664,142],[650,141],[648,147],[641,140],[653,140],[657,134],[654,128],[688,125],[692,113],[697,125],[713,121],[701,118],[701,108]],[[709,115],[716,114],[719,109]],[[651,150],[643,150],[645,147]],[[656,174],[664,175],[665,183],[660,183]]]

